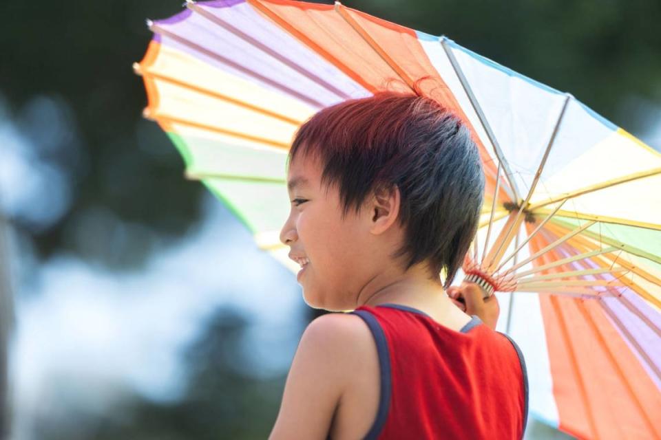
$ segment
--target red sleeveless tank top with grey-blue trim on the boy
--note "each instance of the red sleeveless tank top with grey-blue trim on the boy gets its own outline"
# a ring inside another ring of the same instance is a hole
[[[366,439],[523,438],[528,384],[516,343],[477,316],[454,331],[398,304],[361,306],[379,354],[377,417]]]

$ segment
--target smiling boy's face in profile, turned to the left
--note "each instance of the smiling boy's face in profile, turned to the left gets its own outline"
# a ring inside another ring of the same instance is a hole
[[[308,305],[350,310],[375,263],[369,213],[350,210],[343,220],[337,187],[326,191],[321,175],[313,159],[297,157],[289,164],[291,211],[280,241],[291,248],[292,259],[309,260],[297,274]]]

